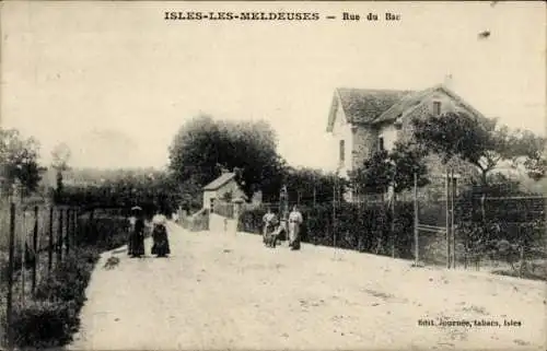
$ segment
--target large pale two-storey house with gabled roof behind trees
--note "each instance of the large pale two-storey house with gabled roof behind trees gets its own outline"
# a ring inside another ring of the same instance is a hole
[[[410,138],[411,119],[449,112],[485,118],[444,84],[422,91],[337,89],[327,132],[338,150],[339,175],[348,177],[348,173],[362,166],[374,151],[391,150],[397,140]],[[435,165],[430,168],[432,166]],[[437,171],[442,172],[439,167]]]

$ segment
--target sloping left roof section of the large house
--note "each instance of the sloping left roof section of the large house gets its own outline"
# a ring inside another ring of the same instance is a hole
[[[341,103],[341,108],[349,124],[371,124],[410,93],[412,91],[338,87],[335,92],[333,106],[337,104],[337,101]],[[333,130],[335,114],[336,108],[331,108],[327,131]]]

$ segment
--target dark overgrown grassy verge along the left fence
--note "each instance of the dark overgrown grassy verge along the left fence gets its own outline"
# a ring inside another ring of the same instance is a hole
[[[18,349],[58,349],[70,343],[80,327],[85,289],[101,253],[126,243],[123,217],[82,218],[79,224],[78,245],[49,274],[42,276],[34,294],[26,288],[22,293],[20,282],[14,284],[11,330]]]

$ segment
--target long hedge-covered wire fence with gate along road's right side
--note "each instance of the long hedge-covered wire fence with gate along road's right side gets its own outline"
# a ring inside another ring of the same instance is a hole
[[[304,217],[303,242],[420,265],[546,276],[535,269],[546,262],[543,194],[508,183],[472,186],[452,173],[429,180],[397,194],[395,200],[386,194],[366,194],[350,201],[347,195],[317,201],[317,194],[302,192],[287,202],[244,203],[240,230],[260,233],[268,208],[282,217],[283,206],[296,204]],[[233,203],[218,201],[213,212],[232,219],[233,209]]]

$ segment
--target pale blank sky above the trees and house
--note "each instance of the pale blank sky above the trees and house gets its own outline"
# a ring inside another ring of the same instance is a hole
[[[488,117],[546,130],[542,2],[2,2],[1,126],[65,142],[77,167],[167,164],[205,113],[266,119],[292,165],[328,168],[336,87],[452,89]],[[165,21],[165,11],[307,11],[319,21]],[[345,22],[342,12],[361,21]],[[363,21],[368,13],[397,22]],[[337,20],[325,20],[326,15]],[[490,31],[487,39],[477,34]]]

